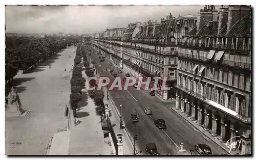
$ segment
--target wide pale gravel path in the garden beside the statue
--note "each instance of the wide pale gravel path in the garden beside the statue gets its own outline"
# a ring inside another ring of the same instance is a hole
[[[69,71],[75,51],[76,47],[67,48],[32,73],[13,79],[22,108],[32,110],[32,114],[28,118],[6,118],[7,155],[45,154],[49,138],[67,125],[64,112],[69,103]]]

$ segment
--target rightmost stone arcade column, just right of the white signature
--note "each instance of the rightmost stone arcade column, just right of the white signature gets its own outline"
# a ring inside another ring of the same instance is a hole
[[[245,131],[243,131],[243,134],[241,135],[242,138],[242,149],[241,154],[250,154],[251,153],[251,130],[249,128],[246,128]]]

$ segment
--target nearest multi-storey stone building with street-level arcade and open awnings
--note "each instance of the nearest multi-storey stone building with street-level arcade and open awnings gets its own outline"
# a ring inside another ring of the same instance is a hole
[[[205,6],[178,42],[176,108],[223,143],[242,139],[241,154],[251,152],[250,17],[250,6]]]

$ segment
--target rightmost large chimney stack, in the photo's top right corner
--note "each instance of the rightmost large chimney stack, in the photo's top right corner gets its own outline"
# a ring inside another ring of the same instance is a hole
[[[251,13],[250,6],[232,5],[228,7],[227,34],[232,26],[242,19],[244,16]]]

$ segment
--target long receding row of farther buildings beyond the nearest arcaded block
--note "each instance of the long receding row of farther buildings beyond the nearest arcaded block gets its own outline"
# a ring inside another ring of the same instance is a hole
[[[196,17],[173,17],[171,14],[161,22],[149,20],[127,25],[126,29],[106,30],[98,37],[93,36],[92,44],[103,54],[136,78],[158,76],[155,91],[163,99],[176,98],[178,42],[182,36],[196,26]],[[167,77],[162,90],[163,77]]]

